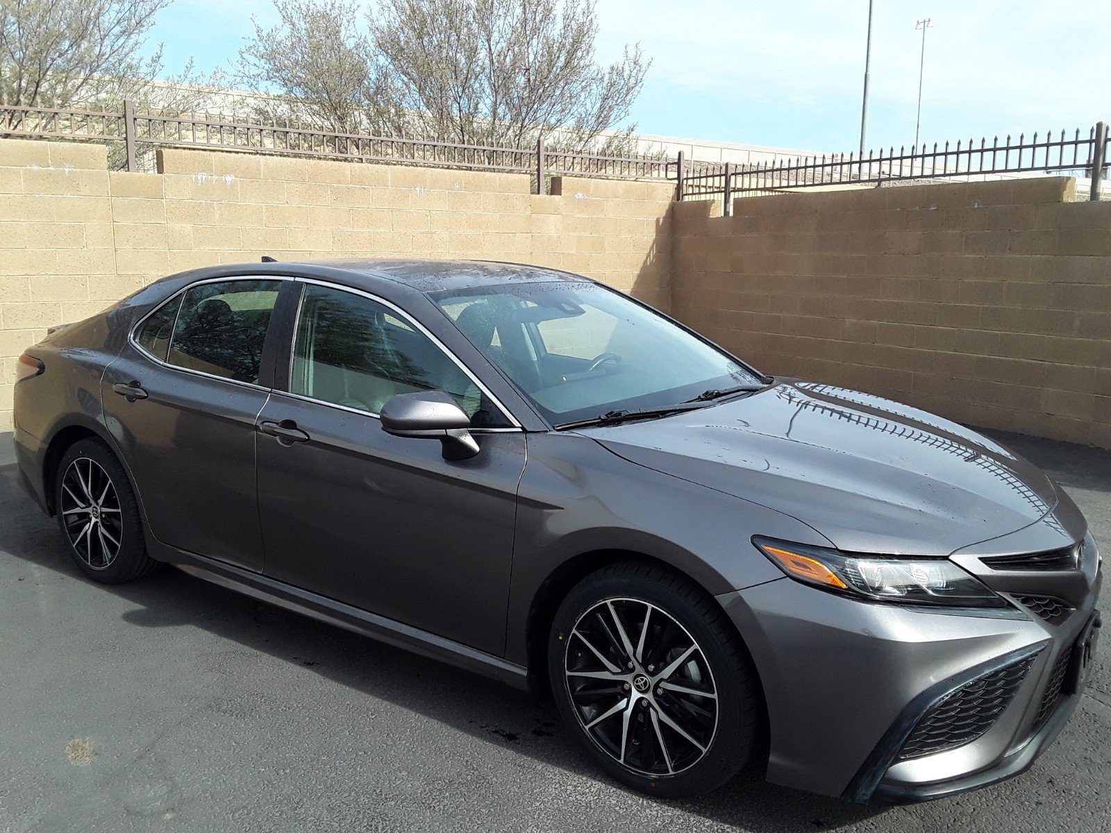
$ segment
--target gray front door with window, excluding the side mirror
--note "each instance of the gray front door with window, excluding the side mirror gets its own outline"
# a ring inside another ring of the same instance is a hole
[[[392,436],[391,397],[443,390],[481,451]],[[259,416],[266,574],[488,653],[504,649],[524,434],[408,315],[307,283],[289,391]]]

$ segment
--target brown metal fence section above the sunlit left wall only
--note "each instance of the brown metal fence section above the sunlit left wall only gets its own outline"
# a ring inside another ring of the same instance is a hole
[[[350,162],[418,164],[530,173],[538,182],[559,174],[613,179],[675,179],[677,162],[652,155],[608,157],[546,149],[364,136],[291,123],[259,123],[208,113],[122,112],[0,106],[0,137],[69,139],[110,143],[123,151],[121,167],[152,169],[157,148],[207,148]]]

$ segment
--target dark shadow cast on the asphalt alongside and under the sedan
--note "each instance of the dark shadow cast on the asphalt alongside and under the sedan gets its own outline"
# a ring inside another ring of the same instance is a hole
[[[22,494],[14,466],[0,468],[3,553],[87,581],[71,562],[58,528]],[[17,496],[18,495],[18,496]],[[12,511],[14,510],[14,511]],[[17,520],[18,519],[18,520]],[[389,701],[471,736],[544,764],[623,790],[609,781],[559,723],[550,699],[529,694],[250,596],[164,569],[123,585],[88,581],[89,593],[113,593],[136,605],[123,621],[139,628],[201,628],[284,662],[310,668],[336,683]],[[438,746],[430,754],[442,756]],[[658,801],[684,812],[762,833],[837,830],[884,811],[768,784],[744,773],[714,794]]]

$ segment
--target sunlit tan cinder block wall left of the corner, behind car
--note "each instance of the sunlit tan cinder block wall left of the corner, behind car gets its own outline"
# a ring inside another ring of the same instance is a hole
[[[590,275],[670,305],[673,187],[168,150],[107,170],[94,145],[0,140],[0,431],[16,358],[172,272],[347,255],[483,258]]]

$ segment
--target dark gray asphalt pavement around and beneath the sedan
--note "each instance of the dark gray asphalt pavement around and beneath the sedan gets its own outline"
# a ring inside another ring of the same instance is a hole
[[[1111,552],[1111,452],[999,436]],[[1111,831],[1111,640],[1058,742],[1004,784],[859,807],[748,776],[659,801],[602,776],[543,697],[174,570],[84,580],[10,449],[0,434],[4,833]]]

